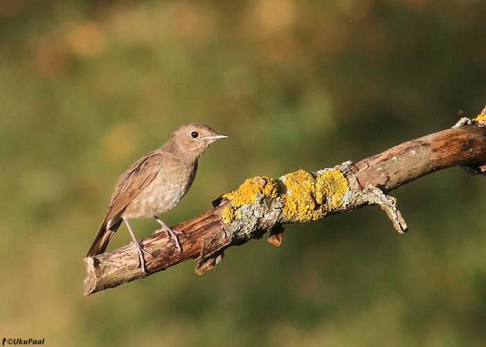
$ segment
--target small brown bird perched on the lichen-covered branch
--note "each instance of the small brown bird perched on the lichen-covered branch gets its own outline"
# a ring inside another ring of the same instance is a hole
[[[131,218],[155,218],[161,226],[156,232],[165,231],[167,238],[174,239],[181,252],[176,234],[183,232],[169,228],[157,215],[173,208],[190,189],[196,176],[197,160],[209,145],[227,137],[203,124],[187,124],[177,128],[162,147],[137,160],[119,177],[105,219],[87,257],[103,253],[121,221],[124,221],[142,271],[146,272],[143,252],[148,252],[137,241],[128,222]]]

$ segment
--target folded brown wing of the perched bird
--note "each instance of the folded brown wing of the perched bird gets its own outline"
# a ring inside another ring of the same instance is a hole
[[[120,214],[133,198],[153,181],[161,166],[162,155],[154,151],[137,160],[126,170],[118,180],[103,223]]]

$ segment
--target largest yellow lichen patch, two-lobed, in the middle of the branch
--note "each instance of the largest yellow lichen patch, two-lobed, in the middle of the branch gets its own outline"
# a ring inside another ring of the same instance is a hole
[[[349,189],[339,170],[324,171],[315,178],[304,170],[283,178],[287,194],[283,196],[283,212],[300,221],[321,219],[330,210],[342,205],[342,195]]]

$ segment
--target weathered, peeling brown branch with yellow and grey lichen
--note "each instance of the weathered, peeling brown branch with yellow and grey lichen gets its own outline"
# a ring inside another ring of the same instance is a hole
[[[215,201],[217,206],[212,210],[174,227],[186,233],[180,237],[182,253],[167,246],[163,233],[142,239],[143,248],[154,255],[146,255],[147,269],[156,273],[193,259],[198,262],[196,273],[203,273],[218,264],[229,246],[260,238],[267,230],[270,230],[269,242],[278,246],[285,223],[314,221],[363,205],[380,205],[394,228],[405,232],[407,225],[396,208],[396,200],[387,193],[455,165],[484,172],[485,123],[486,120],[478,117],[474,124],[469,121],[470,125],[460,124],[412,139],[357,164],[345,162],[315,173],[299,170],[276,180],[250,178],[237,190]],[[85,295],[146,277],[132,244],[84,260]]]

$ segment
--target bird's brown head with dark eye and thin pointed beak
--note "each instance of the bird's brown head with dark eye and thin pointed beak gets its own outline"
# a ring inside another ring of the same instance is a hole
[[[204,124],[186,124],[174,130],[169,143],[178,153],[195,155],[197,158],[208,149],[212,142],[227,137],[216,133],[215,130]]]

